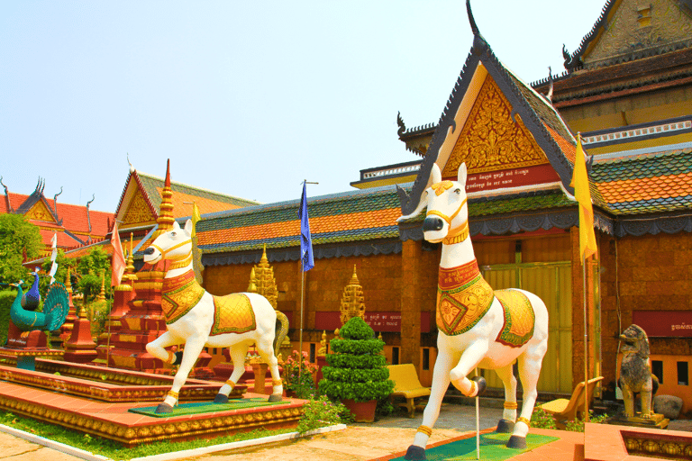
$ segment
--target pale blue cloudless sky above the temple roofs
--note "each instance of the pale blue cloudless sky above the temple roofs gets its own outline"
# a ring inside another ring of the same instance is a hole
[[[605,0],[472,0],[530,83],[564,71]],[[0,0],[0,176],[114,212],[143,173],[261,203],[353,190],[418,159],[396,136],[438,122],[472,43],[461,0]]]

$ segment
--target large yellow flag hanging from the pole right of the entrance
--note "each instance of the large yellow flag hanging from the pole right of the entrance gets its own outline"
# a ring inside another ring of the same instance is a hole
[[[574,187],[574,197],[579,203],[579,255],[581,264],[596,254],[596,234],[594,233],[594,208],[591,205],[591,192],[588,187],[587,162],[581,147],[581,135],[577,135],[577,154],[574,173],[570,184]]]

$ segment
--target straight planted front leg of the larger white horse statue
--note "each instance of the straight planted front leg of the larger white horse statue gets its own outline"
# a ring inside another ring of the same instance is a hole
[[[440,344],[438,344],[438,348],[440,353],[435,360],[435,367],[432,371],[432,387],[428,403],[425,405],[425,410],[423,410],[423,421],[415,433],[413,445],[406,450],[405,459],[426,459],[425,446],[432,435],[435,421],[440,416],[442,398],[450,385],[451,367],[454,366],[459,357],[459,354],[456,354],[457,357],[454,357],[453,353],[445,348],[441,348]]]

